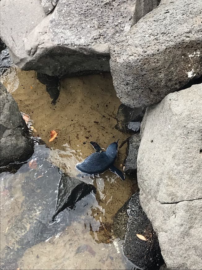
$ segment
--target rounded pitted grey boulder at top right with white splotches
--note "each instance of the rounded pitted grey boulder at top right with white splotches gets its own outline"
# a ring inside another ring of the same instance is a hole
[[[113,84],[123,104],[157,103],[200,78],[201,9],[200,0],[161,0],[110,45]]]

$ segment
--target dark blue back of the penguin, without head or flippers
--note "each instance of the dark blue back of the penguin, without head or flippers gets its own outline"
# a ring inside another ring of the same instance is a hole
[[[109,169],[111,161],[105,152],[93,153],[88,156],[82,163],[77,164],[76,168],[88,174],[103,173]]]

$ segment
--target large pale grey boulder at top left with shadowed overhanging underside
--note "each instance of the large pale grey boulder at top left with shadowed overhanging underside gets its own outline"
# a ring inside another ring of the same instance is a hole
[[[50,76],[109,71],[108,45],[132,26],[135,0],[58,0],[46,16],[43,7],[53,6],[1,1],[1,38],[12,61]]]

